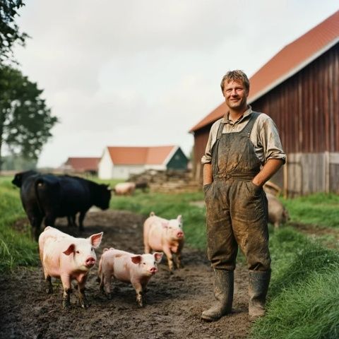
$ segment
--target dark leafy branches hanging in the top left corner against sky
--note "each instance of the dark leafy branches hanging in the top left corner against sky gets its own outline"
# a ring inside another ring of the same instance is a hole
[[[13,44],[25,43],[26,33],[20,32],[15,17],[18,8],[24,6],[22,0],[0,0],[0,62],[12,57]]]

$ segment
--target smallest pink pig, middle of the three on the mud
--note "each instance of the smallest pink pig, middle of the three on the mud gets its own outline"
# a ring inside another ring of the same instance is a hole
[[[157,263],[162,259],[162,253],[132,254],[119,249],[104,249],[99,262],[98,276],[100,290],[111,298],[111,278],[125,283],[131,283],[136,290],[136,302],[143,307],[146,285],[157,273]]]

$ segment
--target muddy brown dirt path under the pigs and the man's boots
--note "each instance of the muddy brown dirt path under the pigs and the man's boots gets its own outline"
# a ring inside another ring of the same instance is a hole
[[[104,231],[97,251],[114,246],[143,253],[143,217],[124,211],[89,213],[85,219],[87,237]],[[69,231],[62,223],[60,230]],[[73,231],[76,232],[76,231]],[[73,234],[78,236],[78,234]],[[169,275],[166,260],[148,284],[145,307],[136,304],[131,285],[114,282],[114,297],[107,300],[96,282],[97,266],[91,270],[87,297],[88,309],[76,305],[61,309],[61,284],[54,281],[54,292],[42,292],[41,268],[17,270],[15,275],[0,277],[0,338],[246,338],[250,323],[247,317],[247,273],[235,272],[234,313],[215,323],[201,321],[201,311],[213,302],[212,271],[205,254],[184,248],[184,268]]]

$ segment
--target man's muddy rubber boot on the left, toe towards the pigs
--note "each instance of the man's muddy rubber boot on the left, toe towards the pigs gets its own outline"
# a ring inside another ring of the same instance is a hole
[[[205,321],[216,321],[232,312],[234,288],[233,270],[214,270],[214,295],[217,301],[201,314]]]

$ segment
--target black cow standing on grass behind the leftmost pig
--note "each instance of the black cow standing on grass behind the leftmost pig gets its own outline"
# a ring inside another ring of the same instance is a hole
[[[27,171],[16,174],[12,183],[20,187],[21,202],[36,240],[43,218],[45,226],[54,226],[55,220],[61,217],[67,217],[70,224],[75,223],[79,212],[78,222],[82,231],[83,219],[90,207],[95,205],[106,210],[111,198],[108,185],[68,175]]]

